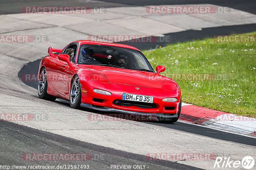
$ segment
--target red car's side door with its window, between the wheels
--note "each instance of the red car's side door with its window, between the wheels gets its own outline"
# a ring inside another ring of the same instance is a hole
[[[76,51],[77,51],[77,44],[70,44],[68,45],[63,51],[62,54],[68,54],[70,57],[71,64],[75,63],[76,59]],[[70,67],[67,62],[61,61],[56,57],[51,62],[51,73],[50,80],[52,83],[53,88],[58,91],[61,95],[66,96],[67,90],[66,89],[66,80],[67,80],[67,70]]]

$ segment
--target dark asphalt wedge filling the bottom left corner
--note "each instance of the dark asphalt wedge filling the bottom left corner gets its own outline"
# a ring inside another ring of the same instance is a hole
[[[119,151],[72,138],[32,129],[7,121],[0,121],[0,165],[16,166],[64,166],[83,165],[88,169],[110,169],[111,165],[143,165],[148,170],[198,169],[166,160],[148,160],[144,155]],[[30,155],[38,153],[86,154],[84,160],[38,160]],[[28,156],[29,154],[29,156]],[[25,156],[24,156],[25,155]],[[31,160],[33,158],[33,160]],[[1,168],[0,168],[1,169]],[[18,169],[18,168],[15,168]],[[29,169],[29,168],[20,168]],[[36,168],[33,168],[36,169]],[[39,169],[39,168],[38,168]],[[56,168],[55,168],[56,169]],[[58,168],[65,169],[65,168]],[[82,169],[82,168],[76,168]],[[84,169],[84,168],[83,168]],[[113,168],[112,168],[113,169]],[[134,168],[131,168],[134,169]]]

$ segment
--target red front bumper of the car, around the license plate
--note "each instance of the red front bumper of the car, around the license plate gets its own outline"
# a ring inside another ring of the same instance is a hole
[[[100,111],[111,111],[114,110],[121,110],[122,113],[144,113],[144,114],[163,114],[167,116],[177,115],[180,103],[180,89],[177,88],[172,91],[160,89],[160,88],[149,88],[149,87],[141,87],[141,86],[132,86],[127,84],[117,84],[117,83],[101,83],[98,81],[90,80],[87,82],[81,82],[81,89],[85,90],[85,93],[82,93],[82,103],[86,103],[91,105],[87,108],[95,109],[92,107],[94,105],[98,106],[96,110],[99,108],[109,108],[103,109]],[[136,87],[140,89],[137,90]],[[99,93],[95,93],[93,89],[101,89],[111,93],[111,95],[103,95]],[[129,94],[137,94],[137,95],[145,95],[145,96],[154,96],[153,103],[156,104],[154,108],[143,108],[143,107],[136,107],[136,106],[123,106],[123,105],[116,105],[114,103],[115,100],[122,100],[123,93]],[[175,97],[177,98],[177,102],[163,102],[163,98],[167,97]],[[100,99],[102,101],[97,101],[95,99]],[[86,105],[85,104],[85,105]],[[84,106],[83,106],[84,107]],[[119,111],[112,111],[112,112],[119,112]],[[160,116],[161,117],[161,116]],[[175,117],[175,116],[174,116]]]

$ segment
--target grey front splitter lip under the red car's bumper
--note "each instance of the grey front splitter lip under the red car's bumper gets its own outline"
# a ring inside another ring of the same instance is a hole
[[[119,110],[119,109],[114,109],[109,107],[96,106],[96,105],[86,104],[86,103],[81,103],[81,107],[99,110],[99,111],[135,115],[136,117],[142,117],[142,119],[139,119],[139,120],[145,120],[145,121],[170,121],[172,120],[172,118],[178,117],[177,113],[176,114],[142,113],[142,112],[136,112],[136,111],[127,111],[127,110]]]

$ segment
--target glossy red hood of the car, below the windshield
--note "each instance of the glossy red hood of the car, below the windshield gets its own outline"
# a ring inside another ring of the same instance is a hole
[[[86,66],[86,68],[90,69],[92,73],[105,75],[108,78],[108,81],[112,83],[150,88],[162,88],[161,81],[172,82],[165,76],[146,71],[93,65]]]

